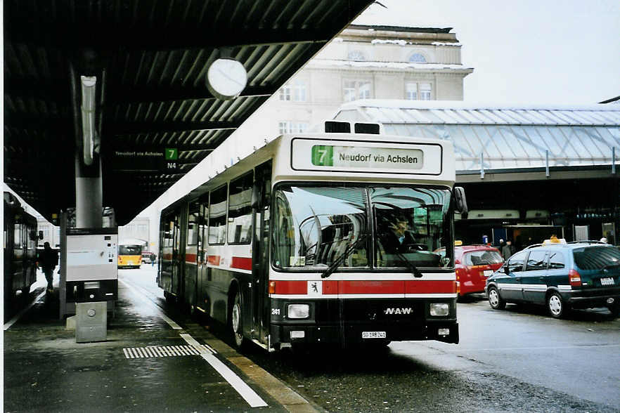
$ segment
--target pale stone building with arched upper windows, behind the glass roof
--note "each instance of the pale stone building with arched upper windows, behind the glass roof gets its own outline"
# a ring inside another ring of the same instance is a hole
[[[473,69],[450,31],[350,25],[269,99],[253,129],[266,137],[304,132],[359,99],[463,100]]]

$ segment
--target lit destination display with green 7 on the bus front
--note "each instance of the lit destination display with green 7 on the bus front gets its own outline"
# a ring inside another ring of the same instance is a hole
[[[368,169],[422,169],[424,152],[394,147],[313,145],[312,164]]]

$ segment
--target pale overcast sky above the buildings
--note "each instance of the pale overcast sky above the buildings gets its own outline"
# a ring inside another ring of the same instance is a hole
[[[356,24],[453,27],[465,101],[585,105],[620,95],[618,0],[379,0]]]

